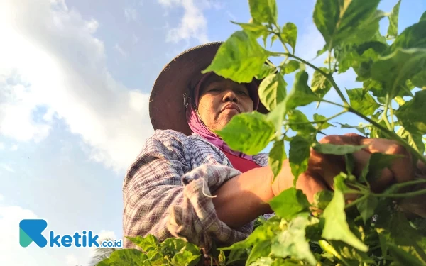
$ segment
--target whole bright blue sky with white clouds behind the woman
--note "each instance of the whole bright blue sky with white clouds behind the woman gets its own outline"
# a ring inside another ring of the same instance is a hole
[[[380,7],[391,11],[395,3]],[[312,23],[314,4],[278,1],[279,22],[297,25],[297,55],[305,59],[324,44]],[[400,29],[425,10],[424,0],[403,1]],[[22,218],[44,218],[55,233],[122,238],[121,184],[153,133],[148,96],[155,78],[178,53],[226,40],[239,30],[230,20],[249,18],[247,1],[1,1],[0,265],[87,265],[92,255],[89,248],[24,250]],[[388,20],[381,24],[385,32]],[[289,87],[292,79],[286,77]],[[351,71],[336,79],[341,87],[359,86]],[[327,98],[337,101],[334,92]],[[339,111],[302,110],[308,118]]]

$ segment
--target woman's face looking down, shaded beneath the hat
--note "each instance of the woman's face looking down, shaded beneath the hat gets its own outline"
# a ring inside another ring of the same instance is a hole
[[[200,88],[198,112],[210,131],[219,131],[239,113],[253,111],[253,101],[244,84],[212,74]]]

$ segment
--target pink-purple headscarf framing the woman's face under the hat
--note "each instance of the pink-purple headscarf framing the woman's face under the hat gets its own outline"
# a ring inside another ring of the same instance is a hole
[[[194,89],[194,92],[192,92],[192,96],[194,99],[190,99],[188,101],[187,109],[186,109],[186,118],[187,123],[190,126],[192,130],[192,134],[198,134],[207,139],[210,143],[217,146],[217,148],[220,148],[222,150],[225,150],[228,153],[231,153],[233,155],[243,157],[245,159],[253,160],[253,156],[246,155],[244,153],[241,153],[239,151],[231,150],[228,145],[222,140],[219,135],[216,135],[209,131],[209,128],[207,128],[206,125],[202,122],[200,116],[198,116],[198,103],[200,101],[200,89],[202,83],[210,77],[214,72],[209,72],[207,74],[204,74],[202,79],[197,83],[197,86]],[[250,98],[253,100],[253,109],[257,110],[259,106],[259,97],[258,97],[258,87],[254,82],[251,82],[250,84],[247,84],[247,89],[249,90]],[[195,104],[195,106],[194,106]]]

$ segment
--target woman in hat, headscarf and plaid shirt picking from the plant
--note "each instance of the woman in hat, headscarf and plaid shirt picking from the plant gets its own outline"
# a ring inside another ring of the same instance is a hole
[[[268,155],[231,150],[212,133],[238,113],[266,113],[258,81],[238,84],[214,73],[200,74],[221,43],[192,48],[175,57],[160,73],[150,99],[155,133],[129,167],[124,180],[124,235],[153,234],[160,241],[181,237],[209,250],[212,243],[231,245],[252,231],[253,220],[272,213],[267,202],[293,186],[288,161],[272,183]],[[402,154],[384,170],[373,189],[413,177],[411,157],[391,140],[333,135],[322,143],[368,145],[355,153],[360,171],[370,153]],[[310,201],[315,192],[332,189],[344,171],[338,157],[312,151],[309,168],[297,181]],[[125,239],[124,248],[134,245]]]

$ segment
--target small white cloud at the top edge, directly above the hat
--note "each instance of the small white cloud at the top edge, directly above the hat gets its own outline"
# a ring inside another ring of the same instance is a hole
[[[208,43],[207,18],[203,9],[219,8],[208,0],[158,0],[166,9],[173,7],[183,8],[184,14],[176,28],[170,28],[166,41],[178,43],[180,40],[197,39],[200,43]]]

